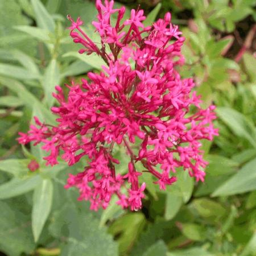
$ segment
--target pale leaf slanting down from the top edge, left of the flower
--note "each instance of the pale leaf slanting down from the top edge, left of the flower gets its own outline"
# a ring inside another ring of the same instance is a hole
[[[54,32],[55,23],[52,16],[48,13],[40,0],[31,0],[31,4],[35,11],[35,19],[38,27]]]

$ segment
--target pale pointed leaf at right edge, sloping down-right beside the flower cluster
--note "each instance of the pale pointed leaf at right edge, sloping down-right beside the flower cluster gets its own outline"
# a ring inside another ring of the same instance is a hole
[[[238,137],[247,139],[256,147],[256,132],[253,124],[244,115],[234,109],[219,107],[216,109],[218,116]]]

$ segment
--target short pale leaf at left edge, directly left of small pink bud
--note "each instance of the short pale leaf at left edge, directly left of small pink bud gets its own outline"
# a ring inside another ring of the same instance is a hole
[[[29,159],[6,159],[0,161],[0,170],[14,176],[25,175],[28,172]]]

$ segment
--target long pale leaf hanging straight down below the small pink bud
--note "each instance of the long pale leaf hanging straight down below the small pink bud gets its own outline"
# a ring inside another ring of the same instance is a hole
[[[44,224],[51,212],[53,184],[50,179],[43,179],[35,188],[32,207],[32,231],[35,242],[42,232]]]

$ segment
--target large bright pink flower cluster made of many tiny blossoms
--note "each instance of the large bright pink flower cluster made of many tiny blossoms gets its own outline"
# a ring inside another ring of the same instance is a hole
[[[65,187],[77,187],[79,200],[89,200],[91,209],[105,209],[115,194],[117,204],[138,210],[146,187],[139,185],[139,162],[160,189],[176,181],[172,174],[179,167],[203,181],[207,162],[200,140],[212,140],[218,131],[212,124],[214,106],[201,109],[200,97],[192,92],[193,80],[181,79],[177,71],[184,63],[180,50],[185,39],[171,23],[171,14],[145,27],[143,10],[131,10],[124,20],[125,7],[113,5],[114,1],[96,1],[98,20],[93,25],[100,47],[82,30],[80,18],[75,22],[68,16],[70,34],[82,46],[79,52],[96,53],[106,65],[100,73],[88,73],[89,82],[66,85],[67,96],[56,86],[53,97],[59,106],[51,110],[58,125],[35,118],[36,125],[28,134],[20,133],[19,142],[43,143],[51,166],[59,155],[69,166],[88,159],[82,172],[69,174]],[[119,146],[130,158],[126,174],[118,170],[113,156]]]

